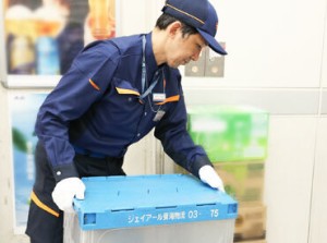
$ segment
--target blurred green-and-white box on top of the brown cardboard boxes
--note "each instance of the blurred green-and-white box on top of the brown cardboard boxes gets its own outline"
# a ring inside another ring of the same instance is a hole
[[[267,157],[268,113],[244,106],[192,106],[187,131],[213,162]]]

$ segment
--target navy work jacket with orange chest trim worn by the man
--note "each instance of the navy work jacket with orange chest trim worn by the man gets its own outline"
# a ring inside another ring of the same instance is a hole
[[[108,157],[123,157],[128,147],[155,127],[164,150],[180,166],[198,177],[210,165],[202,147],[186,131],[186,109],[178,69],[157,66],[152,33],[146,35],[146,87],[154,74],[160,78],[143,102],[143,35],[95,41],[75,58],[57,87],[41,105],[35,132],[44,145],[57,181],[77,177],[75,147]],[[156,102],[153,94],[166,93]],[[160,120],[155,117],[160,110]],[[164,111],[164,112],[162,112]]]

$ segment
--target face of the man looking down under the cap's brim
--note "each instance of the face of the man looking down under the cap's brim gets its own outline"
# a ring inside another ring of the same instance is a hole
[[[204,47],[205,39],[199,34],[182,36],[179,29],[167,46],[167,64],[171,68],[185,65],[191,60],[196,61]]]

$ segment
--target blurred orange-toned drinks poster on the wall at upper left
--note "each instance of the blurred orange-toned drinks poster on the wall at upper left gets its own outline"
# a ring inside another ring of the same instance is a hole
[[[15,81],[47,86],[49,77],[57,84],[83,47],[116,36],[116,0],[4,0],[8,86]]]

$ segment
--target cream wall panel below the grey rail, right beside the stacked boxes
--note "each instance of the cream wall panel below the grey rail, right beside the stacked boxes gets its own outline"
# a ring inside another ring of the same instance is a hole
[[[307,242],[315,131],[315,118],[272,117],[270,120],[265,175],[268,242]]]

